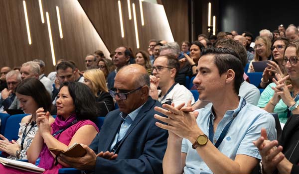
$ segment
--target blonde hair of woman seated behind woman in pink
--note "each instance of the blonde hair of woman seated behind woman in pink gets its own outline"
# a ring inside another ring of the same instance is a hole
[[[104,91],[104,92],[108,92],[105,75],[101,70],[99,70],[99,69],[87,70],[83,74],[83,77],[85,79],[90,80],[90,82],[92,84],[92,89],[91,90],[92,90],[93,93],[96,94],[96,96],[97,96],[97,92],[99,90]]]

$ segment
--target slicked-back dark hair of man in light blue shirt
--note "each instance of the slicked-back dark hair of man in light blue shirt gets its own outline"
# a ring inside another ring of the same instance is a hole
[[[239,94],[240,86],[244,81],[244,68],[239,55],[232,49],[214,47],[203,49],[202,56],[203,55],[214,56],[214,63],[218,68],[220,76],[226,73],[229,69],[232,69],[235,72],[234,89],[235,92]]]

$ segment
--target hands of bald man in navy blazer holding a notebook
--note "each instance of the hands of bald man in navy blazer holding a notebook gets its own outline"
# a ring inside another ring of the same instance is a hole
[[[83,157],[73,158],[68,157],[63,154],[60,154],[58,162],[63,166],[70,166],[79,170],[94,170],[96,166],[97,157],[101,157],[107,160],[115,160],[118,155],[113,152],[100,152],[96,154],[92,149],[90,149],[87,145],[82,145],[82,147],[86,150],[86,155]]]

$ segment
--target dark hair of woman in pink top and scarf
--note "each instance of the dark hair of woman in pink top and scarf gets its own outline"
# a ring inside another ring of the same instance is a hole
[[[96,98],[91,89],[80,82],[65,82],[60,87],[68,87],[68,91],[75,105],[75,112],[79,120],[89,119],[93,122],[97,119],[98,108]],[[60,90],[59,89],[59,90]]]

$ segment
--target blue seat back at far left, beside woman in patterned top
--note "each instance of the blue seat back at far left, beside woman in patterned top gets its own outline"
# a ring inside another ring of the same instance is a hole
[[[7,118],[4,137],[6,137],[9,141],[18,139],[18,130],[20,128],[20,122],[24,116],[28,114],[16,114],[11,115]],[[9,126],[8,126],[9,125]]]

